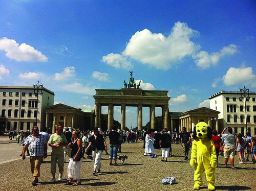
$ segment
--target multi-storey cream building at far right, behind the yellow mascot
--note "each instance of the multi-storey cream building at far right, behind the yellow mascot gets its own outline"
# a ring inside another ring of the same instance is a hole
[[[249,99],[241,98],[240,91],[220,91],[210,96],[210,108],[220,111],[220,130],[231,127],[234,133],[256,133],[256,92],[250,91]]]

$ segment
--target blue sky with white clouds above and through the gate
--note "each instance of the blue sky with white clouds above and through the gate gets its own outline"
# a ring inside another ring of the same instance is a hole
[[[170,111],[256,90],[255,1],[0,1],[0,10],[0,83],[39,80],[56,103],[92,109],[94,89],[122,88],[129,70],[143,89],[169,90]]]

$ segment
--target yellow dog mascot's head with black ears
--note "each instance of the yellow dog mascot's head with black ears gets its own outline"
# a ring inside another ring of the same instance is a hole
[[[211,128],[204,122],[198,123],[194,127],[193,138],[194,139],[211,139]]]

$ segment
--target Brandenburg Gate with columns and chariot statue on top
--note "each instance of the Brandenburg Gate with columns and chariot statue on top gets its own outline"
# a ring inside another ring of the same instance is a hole
[[[143,90],[140,82],[136,86],[132,72],[128,84],[124,81],[122,89],[95,89],[95,127],[101,127],[100,116],[101,106],[108,106],[108,130],[113,126],[114,106],[121,106],[121,130],[125,129],[125,107],[133,106],[138,108],[138,129],[142,129],[142,107],[150,107],[151,128],[155,128],[155,108],[162,108],[163,127],[168,128],[168,97],[166,90]],[[169,129],[169,128],[168,128]]]

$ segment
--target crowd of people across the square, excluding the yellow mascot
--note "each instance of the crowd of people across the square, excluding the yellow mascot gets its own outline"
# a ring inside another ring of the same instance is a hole
[[[109,165],[118,166],[118,152],[121,153],[121,146],[124,142],[132,143],[138,139],[143,140],[144,156],[156,158],[156,149],[161,149],[161,161],[167,162],[168,157],[172,157],[172,144],[180,144],[184,153],[184,160],[188,159],[188,152],[191,144],[194,141],[193,132],[187,132],[186,127],[182,128],[181,132],[169,132],[167,128],[163,128],[161,132],[153,129],[143,131],[120,131],[115,126],[111,131],[101,131],[94,128],[91,131],[80,132],[78,129],[70,132],[69,128],[63,131],[61,125],[56,127],[56,133],[51,136],[47,133],[47,129],[33,127],[32,134],[28,132],[20,133],[23,145],[22,159],[30,157],[30,168],[33,176],[32,185],[38,183],[40,176],[40,165],[44,163],[44,158],[47,158],[47,146],[52,149],[51,152],[51,168],[52,179],[50,182],[55,182],[55,174],[58,166],[58,180],[63,179],[64,163],[69,157],[67,168],[67,182],[65,185],[80,185],[80,169],[82,159],[93,160],[93,175],[101,173],[101,155],[103,152],[108,154],[108,145],[105,139],[110,140],[110,155]],[[217,164],[219,154],[224,155],[224,167],[227,167],[227,162],[230,159],[231,169],[234,167],[234,156],[236,152],[239,155],[239,163],[256,161],[256,136],[251,137],[250,134],[243,136],[242,134],[232,134],[232,128],[224,128],[221,134],[216,130],[212,130],[212,141],[215,144],[217,153]],[[246,153],[247,152],[247,153]],[[87,156],[86,156],[87,155]],[[74,177],[76,181],[74,181]]]

